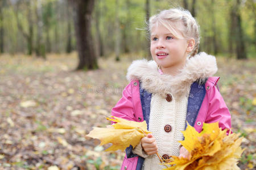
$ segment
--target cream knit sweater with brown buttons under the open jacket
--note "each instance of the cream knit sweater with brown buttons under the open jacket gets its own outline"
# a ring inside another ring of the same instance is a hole
[[[183,134],[180,131],[185,129],[187,104],[188,95],[179,99],[175,99],[172,95],[172,101],[168,102],[162,96],[152,94],[149,131],[156,138],[158,153],[161,156],[164,154],[179,156],[180,143],[177,141],[183,140]],[[164,130],[166,125],[171,125],[172,131],[166,132]],[[163,165],[159,165],[159,158],[156,154],[148,156],[142,151],[141,143],[134,148],[133,152],[145,158],[144,170],[165,168]]]

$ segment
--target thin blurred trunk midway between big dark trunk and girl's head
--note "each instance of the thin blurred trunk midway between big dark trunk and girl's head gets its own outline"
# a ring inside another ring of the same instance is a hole
[[[118,0],[115,0],[115,61],[120,60],[120,24],[118,8]]]

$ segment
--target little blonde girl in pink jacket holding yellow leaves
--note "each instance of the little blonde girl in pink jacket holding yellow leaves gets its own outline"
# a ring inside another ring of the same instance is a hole
[[[121,169],[155,170],[171,155],[187,155],[178,141],[186,121],[197,131],[203,122],[231,128],[230,113],[217,82],[216,59],[199,49],[199,25],[189,11],[164,10],[150,18],[150,51],[154,61],[134,61],[128,69],[130,83],[112,109],[112,115],[137,122],[146,121],[152,134],[136,147],[126,148]]]

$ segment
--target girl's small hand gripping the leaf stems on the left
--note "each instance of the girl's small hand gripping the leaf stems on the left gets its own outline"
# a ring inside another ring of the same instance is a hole
[[[141,139],[141,146],[147,155],[153,155],[158,152],[158,147],[152,134],[147,134],[146,137]]]

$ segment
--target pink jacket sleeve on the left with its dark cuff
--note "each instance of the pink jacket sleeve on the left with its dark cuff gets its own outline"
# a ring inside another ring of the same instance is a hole
[[[129,83],[123,90],[121,99],[112,109],[112,116],[121,117],[126,120],[135,121],[135,111],[133,106],[133,99],[131,95],[131,83]],[[126,148],[127,158],[133,158],[137,155],[133,154],[133,146]]]

